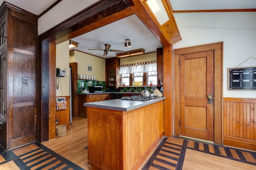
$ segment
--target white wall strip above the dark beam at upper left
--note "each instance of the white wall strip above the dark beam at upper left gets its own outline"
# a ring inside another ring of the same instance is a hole
[[[74,16],[98,0],[62,0],[38,19],[38,35]]]

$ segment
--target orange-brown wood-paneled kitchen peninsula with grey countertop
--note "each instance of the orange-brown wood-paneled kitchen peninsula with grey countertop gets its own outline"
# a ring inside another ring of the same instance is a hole
[[[89,168],[137,170],[164,136],[164,99],[84,103]]]

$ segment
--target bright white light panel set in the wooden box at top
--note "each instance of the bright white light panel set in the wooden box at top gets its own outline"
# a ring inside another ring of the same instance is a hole
[[[163,25],[170,19],[164,8],[162,0],[147,0],[146,3],[148,4],[150,10],[153,12],[160,25]]]

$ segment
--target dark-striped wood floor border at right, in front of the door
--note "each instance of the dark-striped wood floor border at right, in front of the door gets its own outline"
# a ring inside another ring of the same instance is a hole
[[[207,154],[255,165],[256,169],[256,152],[220,145],[210,145],[208,143],[188,139],[165,137],[142,170],[182,170],[186,149],[197,150]]]

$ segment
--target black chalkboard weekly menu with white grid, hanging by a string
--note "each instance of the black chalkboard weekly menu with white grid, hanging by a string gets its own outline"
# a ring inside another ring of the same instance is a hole
[[[256,90],[256,67],[228,68],[228,90]]]

